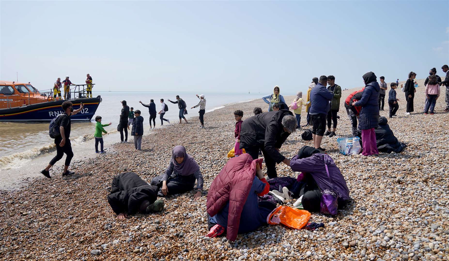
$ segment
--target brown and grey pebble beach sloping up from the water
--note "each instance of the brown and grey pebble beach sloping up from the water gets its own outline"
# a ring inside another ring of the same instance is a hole
[[[369,157],[339,153],[337,138],[351,136],[344,100],[361,87],[342,92],[337,136],[324,137],[321,146],[340,168],[352,200],[333,217],[312,213],[310,222],[323,222],[324,228],[308,231],[269,225],[238,235],[235,242],[204,236],[207,189],[234,145],[233,111],[242,110],[243,120],[253,115],[254,107],[266,111],[266,103],[258,99],[206,113],[204,129],[198,128],[198,116],[189,124],[156,129],[142,138],[141,151],[134,150],[133,143],[116,143],[107,154],[73,162],[71,170],[77,174],[70,177],[60,174],[62,160],[50,171],[52,179],[42,176],[18,191],[1,191],[0,260],[448,260],[445,88],[436,102],[436,114],[424,115],[424,80],[417,82],[415,112],[405,116],[405,95],[398,88],[398,117],[388,119],[395,136],[407,145],[401,153]],[[385,111],[380,111],[387,118],[389,90],[388,82]],[[307,91],[303,93],[305,99]],[[285,98],[290,104],[294,96]],[[303,109],[302,124],[306,115]],[[148,113],[142,116],[146,130]],[[282,145],[287,158],[304,145],[313,146],[313,141],[301,139],[303,129]],[[201,167],[200,200],[193,201],[192,191],[164,198],[161,213],[116,219],[106,200],[113,177],[134,171],[150,183],[166,169],[175,145],[184,145]],[[86,150],[92,153],[93,148]],[[277,165],[277,174],[298,175],[283,163]]]

